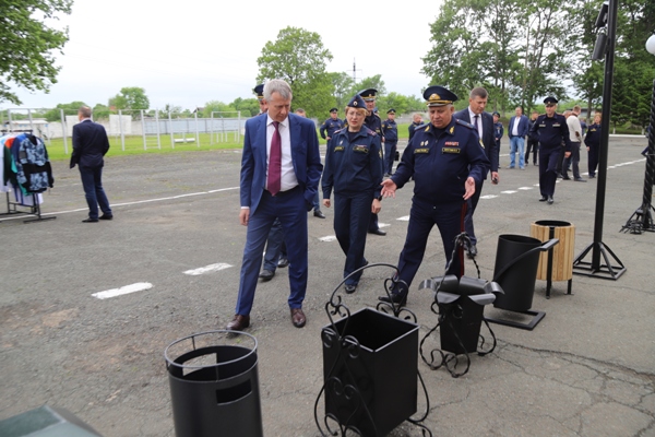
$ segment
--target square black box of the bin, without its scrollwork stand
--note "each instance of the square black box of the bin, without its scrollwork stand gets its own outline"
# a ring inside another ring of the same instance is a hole
[[[362,436],[385,436],[416,413],[418,324],[364,308],[321,336],[326,416]]]

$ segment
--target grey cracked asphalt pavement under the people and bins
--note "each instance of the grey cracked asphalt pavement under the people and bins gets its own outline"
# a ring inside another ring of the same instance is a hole
[[[655,233],[620,232],[642,203],[645,145],[636,137],[611,137],[609,144],[600,235],[617,257],[611,263],[626,273],[618,280],[575,274],[572,295],[565,282],[555,282],[549,299],[546,282],[537,281],[533,309],[545,311],[544,320],[533,331],[491,324],[496,350],[472,355],[460,378],[419,359],[429,397],[424,423],[434,436],[655,436]],[[477,262],[487,280],[499,235],[529,235],[539,220],[565,221],[575,226],[577,255],[598,231],[598,179],[558,181],[548,205],[538,201],[538,167],[504,169],[508,152],[505,141],[500,184],[485,185],[475,215]],[[115,220],[93,224],[81,223],[86,206],[78,170],[57,162],[43,204],[56,220],[25,224],[0,215],[0,421],[48,404],[106,437],[175,435],[164,350],[223,329],[234,315],[246,237],[238,221],[240,157],[239,150],[110,157],[104,181]],[[382,202],[388,235],[369,235],[372,263],[397,263],[412,189],[409,182]],[[307,326],[291,326],[287,269],[258,286],[248,332],[259,342],[266,436],[320,435],[321,329],[345,260],[331,238],[333,211],[323,212],[326,220],[308,214]],[[433,229],[407,305],[420,338],[437,315],[431,293],[417,287],[441,274],[444,260]],[[477,275],[471,261],[466,269]],[[365,271],[357,292],[344,294],[348,307],[374,306],[390,273]],[[151,286],[96,297],[140,283]],[[438,345],[437,336],[429,341]],[[422,397],[418,403],[427,405]],[[390,435],[420,430],[404,423]]]

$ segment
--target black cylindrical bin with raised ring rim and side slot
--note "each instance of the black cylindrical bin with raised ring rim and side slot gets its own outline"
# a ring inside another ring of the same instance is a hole
[[[202,332],[164,357],[177,437],[263,436],[254,336]]]

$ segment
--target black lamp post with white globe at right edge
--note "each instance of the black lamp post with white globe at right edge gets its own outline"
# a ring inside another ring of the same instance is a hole
[[[646,50],[655,55],[655,35],[646,40]],[[622,231],[630,234],[641,234],[644,231],[655,232],[653,222],[653,182],[655,182],[655,81],[653,81],[653,98],[651,99],[651,119],[648,122],[648,147],[646,149],[646,172],[644,176],[644,196],[642,204],[623,225]]]

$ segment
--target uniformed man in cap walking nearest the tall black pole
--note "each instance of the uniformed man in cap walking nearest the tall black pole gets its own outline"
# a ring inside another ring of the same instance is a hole
[[[546,114],[535,120],[531,133],[536,133],[539,139],[539,202],[552,204],[555,182],[557,181],[557,163],[561,162],[561,144],[564,142],[564,156],[571,155],[571,141],[569,141],[569,127],[564,116],[557,114],[557,98],[546,97]]]

